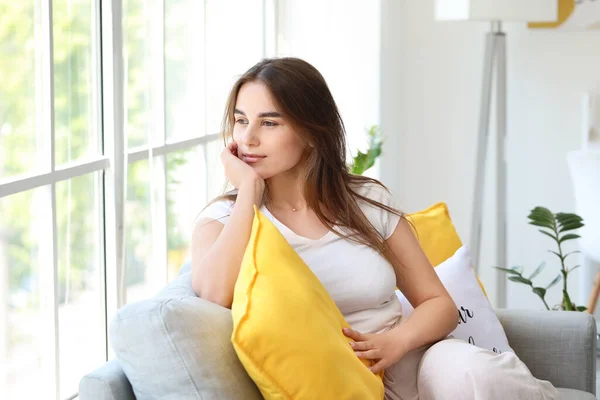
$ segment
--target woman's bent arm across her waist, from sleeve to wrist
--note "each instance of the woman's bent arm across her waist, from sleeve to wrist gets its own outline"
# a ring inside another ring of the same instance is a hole
[[[456,305],[433,270],[413,230],[400,219],[386,241],[396,272],[396,285],[415,308],[393,331],[404,353],[448,336],[458,325]]]

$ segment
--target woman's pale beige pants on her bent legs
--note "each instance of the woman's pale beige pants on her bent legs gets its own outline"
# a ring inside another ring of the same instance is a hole
[[[458,339],[414,350],[388,367],[386,400],[551,400],[557,390],[538,380],[513,353],[496,354]]]

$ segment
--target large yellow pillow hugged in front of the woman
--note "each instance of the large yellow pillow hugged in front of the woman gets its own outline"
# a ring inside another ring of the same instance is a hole
[[[271,221],[254,212],[234,290],[231,340],[263,397],[383,399],[383,374],[354,354],[333,299]]]

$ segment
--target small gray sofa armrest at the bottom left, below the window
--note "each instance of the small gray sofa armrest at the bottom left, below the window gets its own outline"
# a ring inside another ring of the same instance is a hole
[[[79,399],[135,400],[135,395],[119,362],[111,360],[81,379]]]

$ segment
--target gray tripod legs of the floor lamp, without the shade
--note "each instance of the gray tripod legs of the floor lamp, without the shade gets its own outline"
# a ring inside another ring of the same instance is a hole
[[[475,271],[479,271],[481,252],[481,226],[483,220],[483,192],[485,189],[486,153],[489,139],[490,108],[494,70],[496,72],[496,251],[498,267],[508,268],[506,256],[506,35],[502,23],[493,21],[485,43],[481,88],[479,133],[477,136],[477,164],[475,191],[473,193],[473,216],[471,226],[471,252]],[[496,275],[496,306],[506,307],[506,277],[500,271]]]

